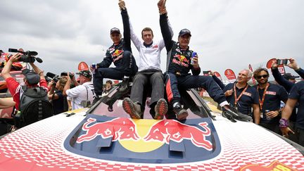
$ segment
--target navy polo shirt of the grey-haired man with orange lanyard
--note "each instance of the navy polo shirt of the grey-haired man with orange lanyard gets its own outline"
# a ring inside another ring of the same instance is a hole
[[[227,86],[224,87],[223,91],[226,92],[229,89],[234,89],[234,84],[235,83],[227,84]],[[245,87],[241,89],[238,89],[238,87],[236,87],[236,98],[239,97],[243,89],[245,89]],[[234,101],[235,101],[234,93],[232,93],[231,96],[227,96],[226,99],[230,103],[230,106],[234,106]],[[258,104],[258,103],[259,103],[258,91],[254,87],[248,86],[245,93],[241,96],[238,103],[236,104],[236,107],[240,113],[253,116],[251,106],[253,104]]]

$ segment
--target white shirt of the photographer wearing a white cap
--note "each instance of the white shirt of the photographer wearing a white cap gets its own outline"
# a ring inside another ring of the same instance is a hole
[[[82,101],[93,102],[94,98],[94,86],[92,82],[84,82],[84,84],[78,85],[72,89],[66,91],[68,95],[68,100],[72,100],[72,110],[77,108],[84,108],[82,106]]]

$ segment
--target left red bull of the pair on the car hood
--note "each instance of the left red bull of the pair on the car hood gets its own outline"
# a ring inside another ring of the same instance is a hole
[[[89,118],[87,122],[82,126],[82,130],[86,133],[82,134],[77,139],[77,143],[83,141],[91,141],[97,136],[101,136],[103,139],[113,137],[112,141],[132,139],[134,141],[139,140],[136,125],[128,118],[115,118],[106,122],[94,123],[96,119]],[[90,126],[89,126],[90,125]]]

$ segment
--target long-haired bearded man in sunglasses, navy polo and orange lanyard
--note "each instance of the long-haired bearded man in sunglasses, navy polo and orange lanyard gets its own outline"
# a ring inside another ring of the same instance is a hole
[[[266,68],[258,68],[253,72],[258,81],[254,88],[258,90],[260,103],[260,125],[272,132],[280,134],[279,119],[281,115],[281,101],[286,103],[288,94],[284,87],[268,82],[269,72]]]

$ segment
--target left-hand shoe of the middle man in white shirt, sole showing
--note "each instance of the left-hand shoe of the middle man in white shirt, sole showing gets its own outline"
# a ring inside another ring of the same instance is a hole
[[[125,110],[127,114],[130,115],[132,119],[140,119],[141,118],[141,106],[137,103],[133,103],[133,101],[129,98],[125,98],[122,101],[122,108]]]

